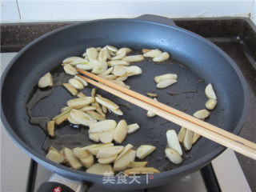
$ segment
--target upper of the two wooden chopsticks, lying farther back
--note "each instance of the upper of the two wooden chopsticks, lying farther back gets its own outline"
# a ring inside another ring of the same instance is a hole
[[[165,110],[166,112],[170,113],[170,114],[174,114],[180,118],[184,118],[187,121],[193,122],[194,124],[197,124],[198,126],[202,126],[205,127],[208,130],[211,130],[217,134],[221,134],[222,136],[226,137],[226,138],[230,138],[232,139],[234,142],[239,142],[244,146],[248,146],[254,150],[256,150],[256,144],[254,142],[250,142],[248,140],[246,140],[245,138],[241,138],[236,134],[231,134],[230,132],[226,131],[226,130],[222,130],[221,128],[219,128],[218,126],[214,126],[208,122],[204,122],[198,118],[194,118],[193,116],[186,114],[180,110],[176,110],[173,107],[170,106],[166,106],[165,104],[163,104],[162,102],[157,102],[154,101],[154,99],[148,98],[145,95],[142,94],[138,94],[137,92],[135,92],[134,90],[128,90],[122,86],[118,86],[117,84],[115,84],[114,82],[110,82],[108,80],[106,80],[105,78],[101,78],[98,75],[95,74],[91,74],[85,70],[80,70],[80,69],[76,69],[78,70],[79,73],[81,74],[85,74],[90,78],[94,78],[95,80],[97,80],[98,82],[102,82],[107,86],[110,86],[112,88],[114,88],[115,90],[119,90],[122,91],[123,93],[129,94],[130,96],[134,97],[134,98],[138,98],[139,100],[142,100],[143,102],[149,103],[153,106],[158,107],[159,109]]]

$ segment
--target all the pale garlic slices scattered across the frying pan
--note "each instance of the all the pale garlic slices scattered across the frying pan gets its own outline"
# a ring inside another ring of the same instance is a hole
[[[82,70],[90,70],[91,73],[129,89],[130,86],[124,83],[126,79],[142,74],[142,69],[139,66],[130,66],[130,62],[140,62],[145,58],[152,58],[153,62],[163,62],[170,57],[170,54],[158,49],[143,49],[143,54],[135,55],[130,55],[131,52],[132,50],[127,47],[121,49],[114,46],[90,47],[86,49],[86,53],[82,54],[83,58],[70,57],[62,61],[65,73],[73,76],[62,86],[74,98],[66,102],[66,106],[62,108],[60,114],[47,122],[48,134],[54,139],[54,125],[68,121],[73,125],[89,127],[90,140],[101,143],[74,147],[73,149],[62,146],[60,151],[50,146],[46,158],[76,170],[84,167],[86,172],[91,174],[104,174],[105,172],[114,174],[114,171],[122,170],[127,175],[134,172],[136,174],[159,173],[159,170],[154,167],[146,167],[148,162],[141,160],[154,153],[154,150],[161,149],[156,149],[150,144],[142,144],[136,150],[132,143],[122,146],[122,142],[126,140],[126,135],[136,132],[140,126],[137,123],[127,125],[125,115],[120,110],[119,105],[109,98],[102,97],[96,93],[95,89],[92,89],[90,96],[82,93],[88,84],[78,77],[78,72],[75,69],[77,67]],[[160,74],[154,77],[154,82],[157,83],[158,89],[163,89],[176,83],[177,78],[177,74]],[[53,86],[50,73],[39,80],[38,86],[40,88]],[[206,109],[213,110],[217,105],[217,98],[211,84],[206,86],[205,93],[206,97],[209,98],[206,102]],[[157,101],[158,94],[147,93],[147,95]],[[209,117],[210,112],[206,109],[198,110],[194,113],[194,117],[200,119]],[[108,112],[119,116],[123,115],[123,119],[119,122],[107,119],[106,114]],[[150,111],[147,112],[148,117],[154,117],[154,115]],[[178,135],[175,130],[168,130],[166,132],[168,144],[165,150],[166,157],[174,164],[182,163],[182,148],[183,150],[190,150],[198,138],[200,138],[199,134],[193,133],[185,127],[181,128]],[[114,145],[113,142],[117,145]],[[139,161],[136,162],[136,160]]]

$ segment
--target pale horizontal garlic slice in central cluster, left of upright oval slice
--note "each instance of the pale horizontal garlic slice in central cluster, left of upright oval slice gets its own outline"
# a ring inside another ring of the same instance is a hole
[[[117,122],[111,119],[107,119],[101,122],[94,122],[90,124],[89,133],[114,130],[116,126],[117,126]]]

